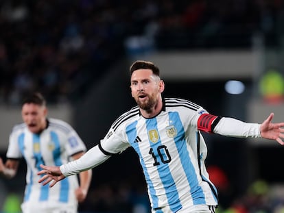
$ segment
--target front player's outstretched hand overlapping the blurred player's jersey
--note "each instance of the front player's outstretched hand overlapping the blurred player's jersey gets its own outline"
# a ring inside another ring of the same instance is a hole
[[[61,173],[59,166],[45,166],[40,164],[40,167],[43,168],[43,170],[39,171],[38,175],[43,175],[43,177],[38,180],[38,183],[43,183],[43,186],[53,180],[53,182],[49,185],[49,187],[52,187],[58,181],[65,178],[65,176]]]

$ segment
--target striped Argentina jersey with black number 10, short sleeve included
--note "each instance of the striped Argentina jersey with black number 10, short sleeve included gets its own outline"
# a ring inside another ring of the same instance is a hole
[[[207,149],[198,118],[208,113],[184,99],[166,98],[154,118],[132,108],[113,123],[100,142],[105,153],[130,147],[139,155],[152,209],[176,212],[182,205],[217,205],[217,191],[204,166]]]

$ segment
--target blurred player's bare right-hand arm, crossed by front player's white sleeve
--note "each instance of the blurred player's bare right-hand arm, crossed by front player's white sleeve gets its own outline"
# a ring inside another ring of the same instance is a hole
[[[77,153],[72,156],[74,160],[79,159],[84,152]],[[86,195],[88,193],[88,188],[90,187],[91,184],[91,179],[92,179],[92,170],[89,169],[87,171],[82,171],[79,173],[80,176],[80,187],[75,190],[75,196],[79,202],[83,202],[84,199],[86,199]]]

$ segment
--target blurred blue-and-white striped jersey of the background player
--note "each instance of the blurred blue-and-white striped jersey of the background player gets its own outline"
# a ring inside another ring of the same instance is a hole
[[[53,188],[49,184],[38,184],[40,164],[60,166],[69,162],[70,156],[86,151],[86,147],[74,129],[64,121],[49,118],[47,128],[40,134],[33,134],[25,123],[16,125],[10,134],[7,158],[25,158],[27,177],[24,202],[58,205],[77,203],[75,188],[78,179],[74,175],[60,181]],[[77,204],[75,204],[77,205]]]

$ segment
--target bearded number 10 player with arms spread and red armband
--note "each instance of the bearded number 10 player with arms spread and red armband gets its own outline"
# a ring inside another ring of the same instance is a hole
[[[272,123],[273,113],[262,124],[245,123],[209,114],[185,99],[163,97],[165,84],[152,62],[134,62],[130,75],[137,106],[119,116],[99,144],[80,159],[62,166],[41,165],[39,183],[52,187],[133,147],[147,181],[153,213],[214,212],[217,190],[206,171],[207,149],[200,131],[262,137],[284,145],[284,123]]]

